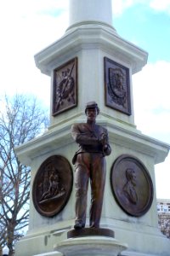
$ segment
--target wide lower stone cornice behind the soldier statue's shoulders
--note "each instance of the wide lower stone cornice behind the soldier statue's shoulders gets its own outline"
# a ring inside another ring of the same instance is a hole
[[[73,143],[71,125],[74,122],[75,119],[72,119],[65,125],[60,124],[49,127],[49,130],[41,137],[17,147],[15,151],[20,161],[27,166],[31,166],[31,161],[38,155],[48,154],[53,150]],[[82,118],[77,118],[77,123],[81,122],[83,122]],[[155,164],[164,161],[167,157],[170,149],[169,144],[146,136],[130,125],[117,124],[117,122],[111,122],[107,119],[99,119],[98,124],[107,128],[110,143],[119,144],[125,148],[132,147],[136,152],[148,154],[154,159]]]

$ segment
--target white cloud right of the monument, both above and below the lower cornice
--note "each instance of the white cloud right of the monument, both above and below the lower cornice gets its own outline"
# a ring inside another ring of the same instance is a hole
[[[157,61],[133,75],[133,101],[137,128],[170,144],[170,62]],[[169,199],[170,154],[156,165],[156,196]]]

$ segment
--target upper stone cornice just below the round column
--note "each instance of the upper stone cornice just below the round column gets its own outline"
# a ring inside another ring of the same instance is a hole
[[[35,61],[42,73],[51,75],[68,55],[76,56],[81,49],[101,49],[127,62],[132,73],[139,72],[147,63],[148,53],[121,38],[114,29],[97,24],[75,26],[54,44],[37,55]]]

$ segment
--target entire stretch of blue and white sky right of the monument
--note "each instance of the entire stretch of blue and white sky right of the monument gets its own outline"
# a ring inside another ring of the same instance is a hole
[[[113,25],[126,38],[149,53],[148,64],[133,75],[137,128],[170,143],[170,1],[113,1]],[[157,198],[170,199],[170,156],[156,165]]]

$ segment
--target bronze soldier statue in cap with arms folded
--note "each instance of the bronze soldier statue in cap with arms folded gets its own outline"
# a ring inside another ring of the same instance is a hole
[[[76,187],[76,223],[75,229],[82,229],[86,224],[88,181],[91,184],[90,228],[99,228],[105,189],[105,155],[111,154],[107,130],[96,125],[99,114],[96,102],[88,102],[85,113],[87,123],[71,127],[71,135],[79,144],[79,150],[73,157],[75,164]]]

